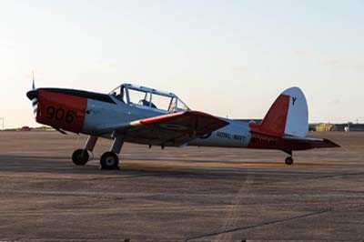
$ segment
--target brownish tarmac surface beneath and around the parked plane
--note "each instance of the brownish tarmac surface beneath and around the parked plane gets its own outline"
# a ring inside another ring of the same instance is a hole
[[[70,156],[86,136],[0,132],[0,241],[364,240],[364,132],[343,148],[125,144],[120,170]]]

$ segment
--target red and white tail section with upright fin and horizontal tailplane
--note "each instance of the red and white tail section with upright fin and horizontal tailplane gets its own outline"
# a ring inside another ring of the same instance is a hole
[[[262,123],[250,124],[250,129],[252,139],[249,147],[280,149],[288,154],[292,150],[339,147],[328,139],[306,137],[308,104],[298,87],[288,88],[278,96]]]

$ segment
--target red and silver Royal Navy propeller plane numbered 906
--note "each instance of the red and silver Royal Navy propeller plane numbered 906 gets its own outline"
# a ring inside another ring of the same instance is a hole
[[[149,146],[220,146],[276,149],[287,153],[311,148],[338,147],[328,139],[306,137],[308,105],[298,87],[284,91],[261,124],[244,123],[191,110],[175,94],[145,86],[123,84],[109,94],[64,88],[35,88],[32,101],[35,120],[66,134],[88,136],[86,145],[72,155],[86,165],[98,137],[113,139],[110,151],[100,158],[102,169],[118,168],[124,142]]]

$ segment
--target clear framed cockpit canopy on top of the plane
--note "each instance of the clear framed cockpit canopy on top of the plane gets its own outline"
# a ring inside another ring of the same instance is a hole
[[[157,91],[145,86],[122,84],[110,92],[118,100],[139,108],[151,108],[168,113],[189,110],[188,106],[173,93]]]

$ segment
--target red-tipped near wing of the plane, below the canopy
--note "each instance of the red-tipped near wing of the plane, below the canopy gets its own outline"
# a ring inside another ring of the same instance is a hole
[[[227,125],[227,121],[216,116],[197,111],[183,111],[140,119],[129,124],[109,126],[100,130],[100,133],[116,131],[128,142],[182,146],[199,136]]]

